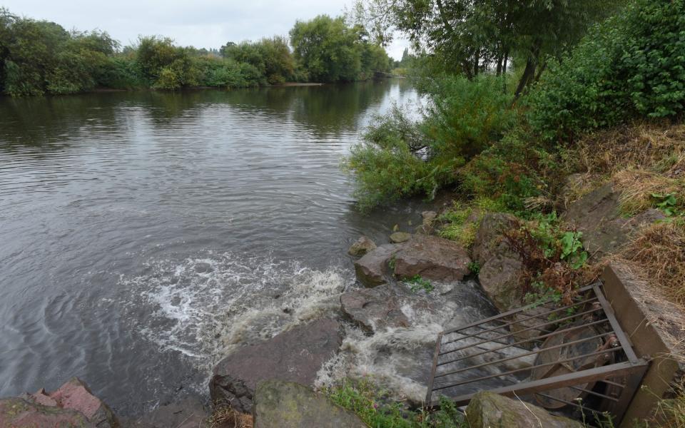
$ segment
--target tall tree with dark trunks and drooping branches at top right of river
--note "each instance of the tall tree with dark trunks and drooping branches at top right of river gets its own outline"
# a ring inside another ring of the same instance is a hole
[[[512,58],[524,63],[517,95],[577,43],[589,26],[604,19],[622,0],[360,0],[352,11],[378,40],[392,31],[410,36],[447,71],[468,78],[487,69],[506,73]]]

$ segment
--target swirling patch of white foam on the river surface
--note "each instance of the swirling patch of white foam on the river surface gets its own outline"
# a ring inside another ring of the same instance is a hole
[[[129,305],[151,311],[133,328],[161,351],[181,352],[208,372],[235,347],[338,316],[340,294],[354,284],[341,267],[313,270],[298,261],[211,251],[181,263],[160,260],[146,270],[119,281],[131,292]]]

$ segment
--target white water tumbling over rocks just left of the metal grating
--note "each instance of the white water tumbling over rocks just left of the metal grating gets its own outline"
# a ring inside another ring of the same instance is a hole
[[[373,335],[348,328],[340,354],[318,373],[317,386],[346,377],[372,378],[397,399],[424,402],[438,333],[494,313],[474,281],[433,285],[434,291],[419,292],[402,305],[409,327],[382,327]],[[401,282],[395,286],[410,288]]]

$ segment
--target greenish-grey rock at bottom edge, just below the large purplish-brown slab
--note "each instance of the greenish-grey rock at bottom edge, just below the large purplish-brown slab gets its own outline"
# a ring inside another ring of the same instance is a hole
[[[259,382],[253,416],[255,428],[367,428],[323,394],[280,380]]]

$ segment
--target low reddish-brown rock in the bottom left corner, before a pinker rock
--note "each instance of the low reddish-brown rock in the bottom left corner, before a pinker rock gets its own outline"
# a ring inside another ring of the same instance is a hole
[[[0,399],[0,427],[97,428],[98,425],[76,410],[45,406],[14,397]]]

